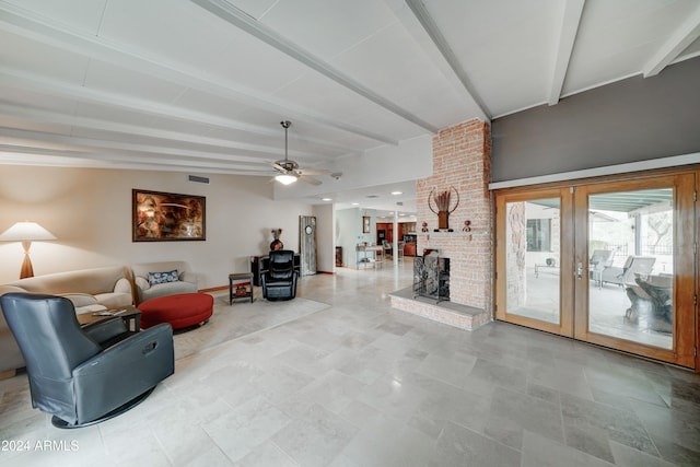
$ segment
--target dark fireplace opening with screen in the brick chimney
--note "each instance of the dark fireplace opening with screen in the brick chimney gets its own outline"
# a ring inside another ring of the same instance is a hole
[[[436,302],[450,301],[450,258],[438,249],[423,249],[413,258],[413,297],[425,296]]]

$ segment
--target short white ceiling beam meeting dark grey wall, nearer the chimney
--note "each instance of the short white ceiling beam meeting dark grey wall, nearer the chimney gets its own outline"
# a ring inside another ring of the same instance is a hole
[[[561,98],[561,90],[564,86],[567,70],[571,61],[571,54],[576,42],[581,16],[585,0],[565,0],[561,5],[561,16],[558,31],[557,50],[552,67],[551,84],[549,86],[549,105],[557,105]]]

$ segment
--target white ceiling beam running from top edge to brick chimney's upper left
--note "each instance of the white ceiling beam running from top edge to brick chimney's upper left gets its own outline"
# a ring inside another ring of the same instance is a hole
[[[384,109],[399,116],[400,118],[417,125],[432,133],[436,133],[440,128],[423,120],[411,112],[400,107],[398,104],[389,101],[383,95],[375,93],[359,81],[350,78],[342,71],[338,70],[327,61],[316,57],[308,50],[298,46],[285,37],[280,36],[265,24],[260,23],[243,10],[234,7],[225,0],[190,0],[213,15],[220,17],[229,24],[238,27],[242,31],[257,37],[267,45],[276,48],[282,54],[293,58],[300,63],[305,65],[312,70],[317,71],[324,77],[335,81],[341,86],[352,91],[353,93],[366,98],[368,101],[383,107]]]

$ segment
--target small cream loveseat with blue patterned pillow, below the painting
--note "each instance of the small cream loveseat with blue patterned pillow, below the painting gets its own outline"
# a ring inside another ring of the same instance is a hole
[[[137,303],[156,296],[195,293],[198,290],[198,277],[189,270],[185,261],[141,262],[133,265],[131,270],[133,271]],[[173,271],[175,272],[173,273]],[[167,281],[159,283],[162,277],[166,277]]]

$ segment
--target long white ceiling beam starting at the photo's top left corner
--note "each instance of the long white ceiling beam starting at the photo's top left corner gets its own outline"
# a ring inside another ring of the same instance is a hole
[[[230,81],[224,81],[209,74],[205,75],[201,73],[201,70],[189,68],[184,63],[170,65],[153,57],[147,57],[142,55],[143,52],[141,50],[130,49],[122,44],[109,42],[104,37],[70,30],[69,26],[65,24],[51,22],[46,17],[39,17],[28,10],[8,3],[4,0],[0,0],[0,12],[2,12],[2,14],[0,14],[1,30],[37,40],[42,44],[59,47],[85,57],[98,57],[102,61],[127,70],[148,73],[171,83],[217,95],[222,100],[231,100],[266,112],[283,115],[284,118],[323,125],[373,141],[398,145],[397,140],[384,135],[328,118],[325,115],[313,113],[307,108],[291,106],[280,100],[262,95]],[[249,127],[252,128],[252,126]]]

